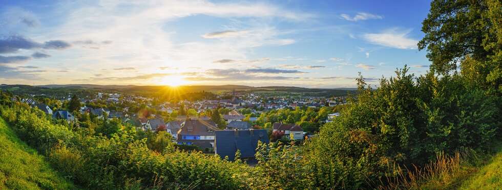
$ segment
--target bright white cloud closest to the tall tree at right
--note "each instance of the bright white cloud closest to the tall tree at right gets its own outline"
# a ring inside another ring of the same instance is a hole
[[[382,33],[364,34],[363,37],[371,44],[398,49],[416,49],[419,40],[408,37],[411,30],[387,30]]]

